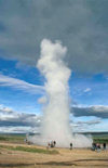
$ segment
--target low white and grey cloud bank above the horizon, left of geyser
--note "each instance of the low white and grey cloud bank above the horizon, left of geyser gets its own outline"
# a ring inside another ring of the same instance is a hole
[[[30,113],[17,113],[9,107],[0,107],[0,132],[39,131],[41,116]]]

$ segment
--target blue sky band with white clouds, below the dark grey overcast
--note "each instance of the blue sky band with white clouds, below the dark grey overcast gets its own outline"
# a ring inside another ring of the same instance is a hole
[[[18,80],[18,82],[15,82]],[[22,83],[22,81],[26,81],[26,83]],[[12,111],[13,117],[16,114],[27,114],[28,116],[35,114],[36,116],[42,115],[42,105],[39,103],[39,99],[44,95],[44,91],[39,88],[32,89],[32,86],[28,88],[28,85],[43,87],[44,77],[39,73],[37,67],[28,67],[23,65],[17,67],[16,61],[8,61],[0,59],[0,104],[1,104],[1,114],[4,108],[8,111]],[[24,87],[25,86],[25,87]],[[76,73],[71,74],[69,79],[69,96],[70,96],[70,106],[76,107],[78,112],[72,107],[70,111],[75,111],[75,117],[70,116],[70,120],[72,120],[72,127],[78,131],[80,127],[80,131],[107,131],[107,122],[108,122],[108,79],[107,76],[103,74],[93,75],[91,77],[78,76]],[[97,106],[107,108],[107,116],[102,111],[100,116],[99,112],[95,112],[93,114],[93,109],[90,112],[91,107]],[[83,111],[89,108],[85,113]],[[81,114],[80,114],[81,112]],[[72,112],[73,113],[73,112]],[[80,115],[77,116],[77,113]],[[86,115],[86,116],[85,116]],[[104,116],[105,115],[105,116]],[[1,115],[2,116],[2,115]],[[31,118],[32,119],[32,118]],[[6,112],[6,117],[2,118],[1,121],[10,120],[10,114]],[[18,120],[18,118],[14,118],[14,125]],[[11,121],[11,120],[10,120]],[[22,121],[21,121],[22,122]],[[13,126],[12,122],[9,124],[9,132],[15,132],[16,127],[19,129],[21,124],[18,126]],[[31,121],[32,122],[32,121]],[[33,121],[37,125],[37,119]],[[71,121],[70,121],[71,124]],[[29,124],[31,125],[31,124]],[[3,132],[6,132],[5,129],[6,124],[2,122]],[[17,129],[16,129],[17,131]],[[19,132],[28,132],[28,131],[39,131],[37,126],[22,126],[18,130]]]

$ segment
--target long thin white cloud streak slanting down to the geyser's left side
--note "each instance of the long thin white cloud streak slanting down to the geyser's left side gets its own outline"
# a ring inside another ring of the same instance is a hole
[[[4,75],[0,75],[0,87],[11,87],[14,89],[29,92],[31,94],[44,92],[44,88],[42,86],[32,85],[24,80],[12,78]]]

